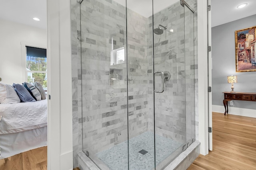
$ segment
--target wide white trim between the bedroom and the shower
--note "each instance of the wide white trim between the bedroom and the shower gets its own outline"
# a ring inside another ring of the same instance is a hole
[[[49,170],[72,170],[70,0],[47,0]]]

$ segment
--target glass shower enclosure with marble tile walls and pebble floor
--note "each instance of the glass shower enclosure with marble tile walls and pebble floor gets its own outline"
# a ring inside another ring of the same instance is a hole
[[[166,3],[80,3],[82,147],[102,170],[161,170],[195,139],[194,11]]]

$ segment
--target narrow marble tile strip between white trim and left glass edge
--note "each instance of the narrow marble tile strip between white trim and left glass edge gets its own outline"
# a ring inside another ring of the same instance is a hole
[[[71,50],[72,50],[72,123],[73,123],[73,167],[78,167],[77,153],[82,150],[81,109],[81,57],[80,57],[80,4],[70,0]],[[79,106],[79,107],[78,107]]]

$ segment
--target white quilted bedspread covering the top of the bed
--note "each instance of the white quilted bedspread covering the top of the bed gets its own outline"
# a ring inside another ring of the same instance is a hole
[[[0,104],[0,134],[47,126],[47,100]]]

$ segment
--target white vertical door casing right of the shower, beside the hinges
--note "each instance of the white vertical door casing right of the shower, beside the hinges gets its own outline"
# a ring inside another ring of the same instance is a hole
[[[208,145],[208,66],[207,1],[198,1],[198,129],[200,154],[209,153]]]

